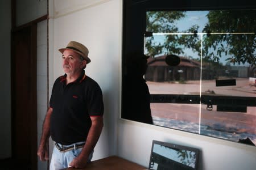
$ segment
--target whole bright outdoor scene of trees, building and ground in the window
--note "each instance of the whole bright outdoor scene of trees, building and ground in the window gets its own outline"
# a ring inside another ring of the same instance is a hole
[[[256,145],[256,10],[147,11],[155,125]],[[177,66],[168,55],[180,58]]]

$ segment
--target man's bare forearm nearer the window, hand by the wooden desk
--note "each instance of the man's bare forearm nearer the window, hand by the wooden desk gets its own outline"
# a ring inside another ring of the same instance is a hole
[[[73,161],[69,164],[71,167],[84,168],[90,153],[93,151],[93,148],[96,146],[96,143],[100,138],[103,128],[103,116],[91,116],[90,119],[92,120],[92,126],[90,126],[85,145],[82,148],[79,156],[73,159]]]

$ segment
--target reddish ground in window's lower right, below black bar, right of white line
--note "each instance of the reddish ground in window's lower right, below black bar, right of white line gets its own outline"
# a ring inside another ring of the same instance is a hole
[[[202,105],[201,112],[201,134],[236,142],[249,138],[243,143],[256,143],[255,107],[247,107],[247,112],[241,113],[217,112],[216,105],[209,111],[207,105]]]

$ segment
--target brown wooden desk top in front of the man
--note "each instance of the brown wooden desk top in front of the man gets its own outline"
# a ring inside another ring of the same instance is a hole
[[[109,156],[88,163],[84,170],[143,170],[147,169],[139,164],[130,162],[129,160],[119,158],[118,156]],[[77,170],[75,168],[67,168],[67,170]]]

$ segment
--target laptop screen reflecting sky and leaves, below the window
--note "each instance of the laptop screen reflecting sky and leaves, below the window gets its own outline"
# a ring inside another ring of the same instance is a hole
[[[152,141],[148,169],[197,169],[199,149],[173,143]]]

